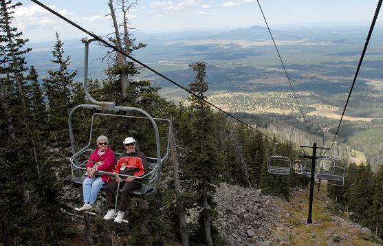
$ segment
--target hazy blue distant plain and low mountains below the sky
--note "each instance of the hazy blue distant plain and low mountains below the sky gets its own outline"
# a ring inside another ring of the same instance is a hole
[[[146,43],[147,47],[136,50],[133,54],[142,63],[153,67],[157,71],[171,75],[171,78],[193,78],[193,74],[186,72],[188,64],[196,60],[204,60],[214,69],[208,70],[210,83],[214,85],[231,85],[231,83],[245,82],[245,80],[259,79],[259,76],[275,74],[267,69],[276,67],[280,69],[280,62],[276,57],[275,49],[270,42],[270,34],[266,27],[252,26],[223,31],[188,31],[164,32],[146,34],[135,32],[137,42]],[[366,29],[355,28],[307,28],[273,29],[272,34],[279,46],[290,75],[296,78],[309,76],[311,72],[321,71],[342,76],[351,76],[361,47],[364,45]],[[65,40],[65,56],[71,57],[70,69],[76,69],[76,80],[83,80],[84,44],[77,39]],[[377,30],[371,38],[371,45],[382,45],[383,32]],[[50,59],[54,41],[44,43],[28,43],[32,52],[26,55],[28,65],[34,65],[40,77],[47,76],[47,71],[53,69]],[[374,46],[373,46],[374,47]],[[372,48],[373,48],[372,47]],[[105,47],[97,43],[89,46],[89,78],[102,78],[103,70],[107,67],[107,54]],[[381,67],[380,49],[369,49],[369,56],[364,60],[364,67],[369,66],[371,71],[366,77],[382,78],[378,67]],[[371,57],[371,61],[368,59]],[[336,67],[323,70],[323,65],[338,62]],[[307,70],[304,66],[312,67]],[[341,69],[339,67],[342,67]],[[268,67],[260,73],[259,67]],[[319,70],[320,69],[320,70]],[[374,69],[374,70],[372,70]],[[373,73],[372,73],[373,71]],[[243,74],[244,73],[244,74]],[[214,75],[214,76],[213,76]],[[283,75],[283,74],[282,74]],[[142,70],[142,78],[151,78],[153,74]],[[294,77],[293,77],[294,78]],[[186,80],[184,80],[186,82]],[[309,84],[310,82],[307,81]],[[308,84],[305,84],[309,86]],[[164,84],[166,86],[166,83]],[[272,89],[274,85],[267,86]]]

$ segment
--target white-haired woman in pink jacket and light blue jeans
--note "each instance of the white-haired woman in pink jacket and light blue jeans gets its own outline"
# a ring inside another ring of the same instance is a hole
[[[97,148],[91,154],[87,163],[87,178],[83,181],[84,205],[76,208],[78,211],[91,210],[96,203],[98,192],[107,183],[109,175],[96,175],[97,171],[113,172],[116,157],[108,146],[108,138],[100,135],[97,137]]]

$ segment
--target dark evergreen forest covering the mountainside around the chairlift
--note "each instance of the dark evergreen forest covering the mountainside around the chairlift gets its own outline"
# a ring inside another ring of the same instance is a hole
[[[24,58],[31,51],[28,39],[12,25],[14,9],[21,3],[0,0],[0,5],[0,135],[4,141],[0,147],[0,244],[71,245],[83,231],[78,230],[72,212],[68,213],[72,205],[82,201],[70,175],[67,121],[76,105],[90,102],[82,82],[74,81],[76,71],[69,69],[72,61],[65,55],[59,33],[52,47],[49,76],[41,78]],[[113,10],[113,1],[109,6]],[[126,7],[122,4],[124,10]],[[123,28],[113,35],[109,41],[128,54],[145,47],[135,44],[135,38]],[[111,225],[98,217],[92,220],[98,230],[94,238],[97,245],[117,245],[116,238],[122,245],[226,245],[228,235],[215,225],[217,204],[213,197],[219,183],[261,189],[263,194],[287,201],[294,187],[307,189],[309,180],[302,175],[267,173],[272,140],[213,111],[199,99],[206,98],[208,91],[206,63],[189,65],[195,78],[188,89],[199,98],[190,95],[188,104],[175,104],[162,98],[160,88],[153,87],[151,81],[136,80],[140,68],[134,63],[113,52],[110,56],[105,79],[89,79],[89,93],[96,100],[137,107],[153,118],[171,120],[177,158],[166,159],[160,188],[146,198],[149,210],[141,210],[138,200],[133,200],[127,212],[129,225]],[[84,109],[74,115],[78,146],[89,138],[93,113],[97,112]],[[165,128],[159,127],[162,131]],[[101,120],[96,133],[107,135],[116,152],[122,151],[121,142],[129,134],[138,139],[140,150],[153,155],[153,132],[145,124]],[[162,148],[166,148],[166,134],[161,137]],[[274,139],[283,144],[278,154],[295,159],[301,143],[288,140]],[[175,188],[172,161],[179,164],[179,190]],[[382,182],[383,165],[373,173],[369,164],[351,164],[344,187],[328,186],[336,209],[349,212],[353,221],[369,227],[377,237],[382,237],[383,228]],[[98,204],[104,213],[106,204]],[[197,219],[180,226],[182,216],[192,210],[199,211]]]

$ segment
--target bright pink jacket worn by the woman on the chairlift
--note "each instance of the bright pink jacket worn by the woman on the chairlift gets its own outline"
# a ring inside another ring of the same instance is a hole
[[[105,150],[104,155],[98,155],[98,150],[100,148],[96,148],[93,153],[91,153],[91,157],[89,157],[86,168],[93,168],[94,164],[98,161],[102,161],[103,163],[98,166],[98,171],[105,172],[113,172],[114,166],[116,164],[116,157],[114,156],[113,150],[108,146],[107,150]],[[105,183],[108,181],[109,175],[102,175],[101,179]]]

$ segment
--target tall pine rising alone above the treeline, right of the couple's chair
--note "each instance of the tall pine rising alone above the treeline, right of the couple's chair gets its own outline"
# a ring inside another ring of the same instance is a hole
[[[205,82],[206,64],[197,62],[190,64],[190,67],[196,73],[193,82],[190,82],[190,91],[193,91],[200,98],[206,98],[208,83]],[[201,212],[201,221],[204,225],[204,234],[206,244],[212,245],[212,219],[215,215],[212,196],[215,192],[214,185],[219,182],[219,167],[217,163],[217,134],[216,126],[213,122],[213,113],[208,104],[205,104],[196,96],[189,97],[190,109],[193,112],[193,118],[188,122],[190,131],[188,139],[188,176],[195,180],[195,195],[198,196],[199,205],[203,208]]]

